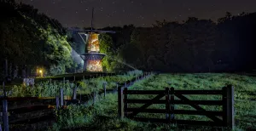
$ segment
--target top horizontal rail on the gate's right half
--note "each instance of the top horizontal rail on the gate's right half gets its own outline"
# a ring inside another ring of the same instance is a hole
[[[174,94],[222,94],[222,90],[175,90]]]

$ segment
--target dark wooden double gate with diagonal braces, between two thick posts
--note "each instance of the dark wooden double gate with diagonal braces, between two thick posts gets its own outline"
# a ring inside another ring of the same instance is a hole
[[[128,99],[129,94],[154,94],[152,100],[136,100]],[[221,95],[222,100],[189,100],[185,95],[189,94],[211,94]],[[163,100],[162,98],[166,99]],[[179,100],[177,100],[177,99]],[[217,127],[235,127],[234,119],[234,88],[229,85],[222,90],[175,90],[174,88],[166,88],[166,90],[127,90],[127,88],[119,88],[119,117],[129,117],[131,119],[142,122],[166,122],[188,125],[207,125]],[[143,104],[140,108],[129,108],[128,104]],[[149,105],[165,104],[166,109],[147,109]],[[190,105],[195,110],[177,110],[175,105]],[[222,106],[222,111],[207,111],[201,105],[218,105]],[[138,113],[163,113],[165,119],[136,117]],[[179,120],[175,118],[176,114],[183,115],[201,115],[211,119],[211,121],[192,121]],[[218,116],[218,117],[217,117]],[[221,117],[221,118],[219,118]]]

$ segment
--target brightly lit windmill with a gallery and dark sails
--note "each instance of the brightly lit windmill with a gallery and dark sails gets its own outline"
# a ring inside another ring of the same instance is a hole
[[[85,54],[82,54],[84,59],[84,71],[102,71],[102,59],[106,54],[100,53],[100,42],[99,35],[101,33],[115,33],[115,31],[100,31],[92,29],[92,20],[93,20],[94,9],[92,9],[91,15],[91,29],[79,32],[80,37],[85,43]]]

